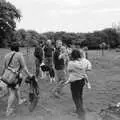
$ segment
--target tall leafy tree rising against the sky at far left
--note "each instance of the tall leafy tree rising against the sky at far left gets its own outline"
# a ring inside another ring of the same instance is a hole
[[[16,7],[10,2],[0,2],[0,45],[4,45],[4,39],[9,39],[14,34],[16,20],[20,20],[21,14]]]

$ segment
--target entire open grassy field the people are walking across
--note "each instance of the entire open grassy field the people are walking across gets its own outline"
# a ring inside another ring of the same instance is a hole
[[[34,74],[33,49],[30,49],[29,55],[26,49],[21,49],[21,51],[24,53],[29,70]],[[3,58],[7,52],[6,49],[0,49],[0,69],[2,69]],[[98,116],[101,109],[120,101],[120,53],[110,50],[105,51],[105,55],[101,56],[101,51],[89,51],[88,56],[93,64],[93,70],[89,74],[92,89],[84,87],[86,120],[102,120]],[[36,109],[30,113],[27,104],[17,106],[16,115],[10,117],[9,120],[78,120],[77,115],[73,113],[74,104],[69,85],[63,89],[65,94],[60,99],[51,96],[50,90],[54,84],[47,79],[39,80],[39,86],[40,99]],[[27,85],[23,84],[22,96],[27,97],[27,92]],[[6,103],[6,97],[0,99],[0,120],[8,120],[5,117]]]

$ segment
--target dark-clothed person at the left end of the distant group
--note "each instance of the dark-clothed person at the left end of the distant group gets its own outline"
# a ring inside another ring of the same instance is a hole
[[[41,44],[40,45],[38,44],[35,47],[34,56],[35,56],[35,66],[36,66],[35,75],[36,75],[36,78],[38,79],[39,74],[40,74],[40,77],[42,77],[42,71],[40,70],[40,65],[42,64],[42,61],[43,61],[43,50],[42,50]]]

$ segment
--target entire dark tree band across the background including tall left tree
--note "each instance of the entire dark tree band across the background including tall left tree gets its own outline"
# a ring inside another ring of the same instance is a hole
[[[120,45],[120,34],[115,29],[106,28],[91,33],[68,33],[65,31],[38,33],[35,30],[16,30],[16,20],[22,18],[20,11],[10,2],[0,2],[0,47],[7,47],[11,42],[19,42],[21,47],[36,46],[51,39],[54,44],[60,39],[66,45],[77,44],[89,49],[99,49],[100,44],[106,47],[116,48]]]

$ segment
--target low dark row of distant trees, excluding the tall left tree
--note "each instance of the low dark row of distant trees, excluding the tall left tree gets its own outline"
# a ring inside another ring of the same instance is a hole
[[[16,40],[21,47],[33,47],[38,43],[45,43],[47,39],[51,39],[53,44],[60,39],[68,46],[76,44],[81,47],[87,46],[89,49],[99,49],[102,43],[106,44],[106,48],[116,48],[120,45],[119,33],[113,28],[106,28],[92,33],[68,33],[64,31],[38,33],[34,30],[19,29],[14,32],[14,38],[11,39],[11,42]]]

